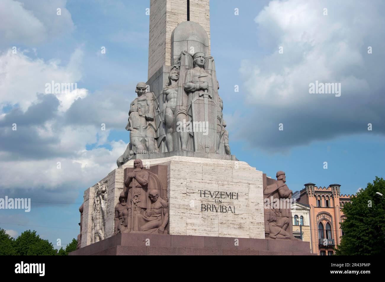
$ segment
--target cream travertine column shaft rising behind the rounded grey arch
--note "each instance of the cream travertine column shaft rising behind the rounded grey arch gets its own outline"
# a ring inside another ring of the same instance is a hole
[[[210,38],[209,4],[209,0],[190,0],[190,21],[199,23]],[[186,20],[186,0],[150,1],[148,79],[163,65],[171,65],[171,33]]]

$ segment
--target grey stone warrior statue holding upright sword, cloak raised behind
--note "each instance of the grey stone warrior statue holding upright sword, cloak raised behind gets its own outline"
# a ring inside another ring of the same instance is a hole
[[[179,65],[179,80],[184,83],[183,87],[178,88],[176,122],[192,123],[195,131],[179,132],[178,149],[216,153],[218,81],[214,59],[206,58],[203,52],[197,52],[191,57],[187,51],[183,51]]]

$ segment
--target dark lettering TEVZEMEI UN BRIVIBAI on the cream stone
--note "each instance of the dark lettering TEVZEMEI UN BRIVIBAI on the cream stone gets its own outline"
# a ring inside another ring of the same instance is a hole
[[[231,212],[235,213],[235,206],[225,206],[222,205],[221,199],[232,199],[238,200],[238,193],[236,192],[224,192],[224,191],[209,191],[209,190],[198,190],[200,197],[215,199],[214,204],[201,204],[201,211],[211,211],[211,212]]]

